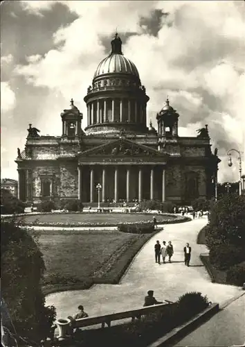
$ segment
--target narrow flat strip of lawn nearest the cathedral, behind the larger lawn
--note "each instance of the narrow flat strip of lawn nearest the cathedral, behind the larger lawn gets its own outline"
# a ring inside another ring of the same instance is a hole
[[[45,222],[45,223],[111,223],[118,224],[123,222],[136,222],[136,221],[152,221],[152,214],[136,214],[136,213],[60,213],[60,214],[38,214],[27,215],[21,217],[21,220],[27,224],[31,222]],[[167,219],[176,219],[174,216],[156,215],[158,223],[166,221]]]

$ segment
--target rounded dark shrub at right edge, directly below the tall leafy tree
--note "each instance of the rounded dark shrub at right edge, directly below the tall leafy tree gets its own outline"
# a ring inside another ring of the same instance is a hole
[[[245,260],[245,254],[240,247],[232,244],[219,244],[210,249],[209,259],[210,263],[217,269],[226,270]]]

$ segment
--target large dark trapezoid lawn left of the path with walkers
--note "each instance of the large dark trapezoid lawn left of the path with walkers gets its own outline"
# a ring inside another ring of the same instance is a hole
[[[118,231],[58,231],[39,233],[44,254],[45,294],[85,289],[95,282],[118,282],[149,235]],[[120,260],[120,261],[118,261]]]

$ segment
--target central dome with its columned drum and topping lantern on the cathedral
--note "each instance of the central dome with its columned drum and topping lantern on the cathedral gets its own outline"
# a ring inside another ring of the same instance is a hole
[[[141,85],[138,70],[122,53],[116,34],[111,53],[103,59],[87,90],[87,134],[148,133],[146,107],[149,97]]]

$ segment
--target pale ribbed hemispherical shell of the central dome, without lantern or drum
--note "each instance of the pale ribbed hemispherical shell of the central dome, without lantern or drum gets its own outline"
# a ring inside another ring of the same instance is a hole
[[[110,73],[130,74],[139,78],[138,70],[134,65],[134,62],[131,62],[122,54],[113,53],[103,59],[98,65],[93,78]]]

